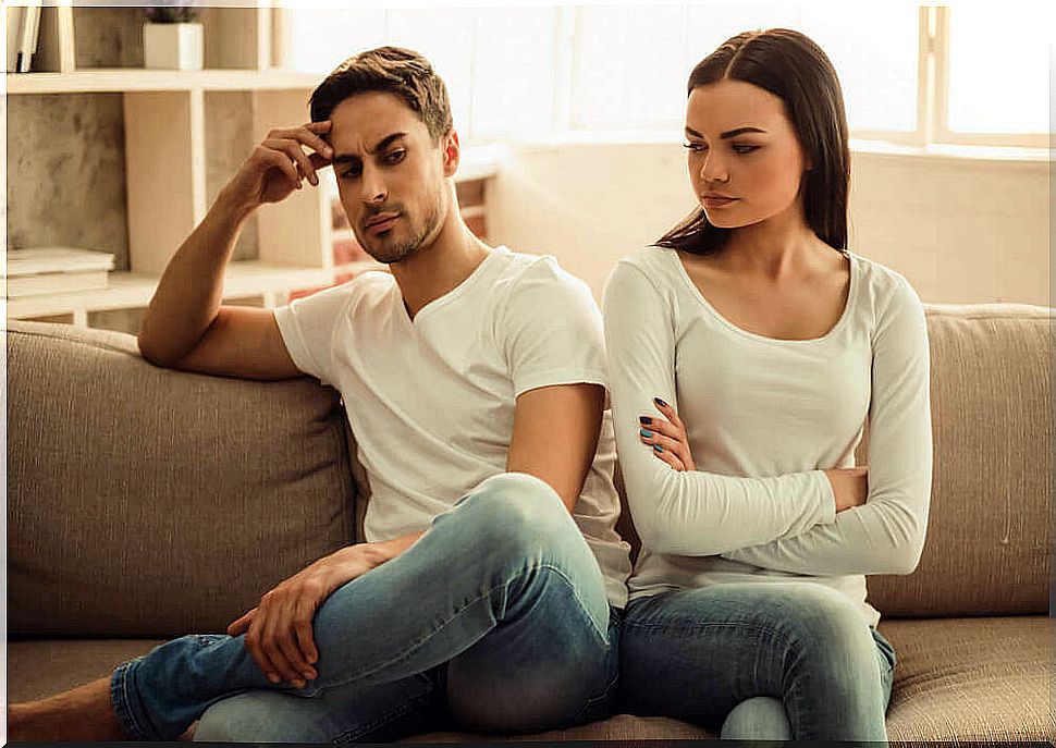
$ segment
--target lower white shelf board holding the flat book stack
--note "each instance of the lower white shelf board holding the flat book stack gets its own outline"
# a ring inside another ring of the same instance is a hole
[[[262,296],[265,306],[285,303],[285,294],[302,289],[330,285],[349,271],[384,269],[373,262],[353,262],[332,268],[304,268],[267,265],[258,261],[232,262],[224,275],[223,298]],[[7,302],[8,319],[73,315],[89,311],[146,307],[158,285],[158,277],[146,273],[112,272],[107,289],[75,291],[40,296],[11,298]]]

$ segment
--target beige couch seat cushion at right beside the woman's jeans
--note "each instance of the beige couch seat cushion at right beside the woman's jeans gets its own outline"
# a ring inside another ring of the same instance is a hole
[[[892,740],[1056,740],[1046,616],[885,621],[898,657]]]

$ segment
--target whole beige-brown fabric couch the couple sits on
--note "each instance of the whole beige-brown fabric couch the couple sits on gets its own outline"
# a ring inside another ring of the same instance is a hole
[[[1048,310],[932,307],[929,328],[928,543],[913,575],[870,580],[899,657],[889,734],[1056,739]],[[221,631],[352,541],[364,502],[349,443],[337,395],[312,380],[167,371],[128,335],[12,322],[9,698],[106,675],[165,637]],[[542,737],[710,736],[617,715]]]

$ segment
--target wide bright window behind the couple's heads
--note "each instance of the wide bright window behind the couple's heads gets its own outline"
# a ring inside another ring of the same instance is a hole
[[[1056,19],[1047,8],[1032,8],[370,10],[287,2],[281,59],[321,75],[357,50],[382,44],[417,49],[447,82],[459,132],[475,139],[629,127],[677,136],[692,66],[734,34],[785,26],[813,38],[832,59],[855,137],[1047,146],[1048,46]]]

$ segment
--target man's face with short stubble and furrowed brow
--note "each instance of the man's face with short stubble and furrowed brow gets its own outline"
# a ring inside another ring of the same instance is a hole
[[[330,119],[341,205],[367,254],[392,263],[432,243],[450,208],[453,134],[434,143],[414,110],[384,91],[349,97]]]

